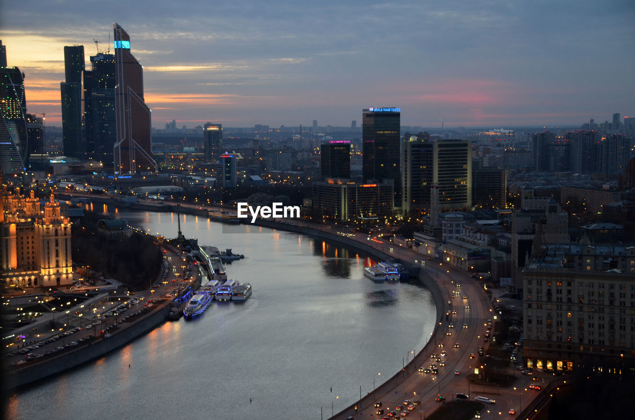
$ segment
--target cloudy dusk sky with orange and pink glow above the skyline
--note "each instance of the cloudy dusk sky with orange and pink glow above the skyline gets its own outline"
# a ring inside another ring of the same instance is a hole
[[[90,65],[112,22],[144,66],[156,128],[360,126],[368,107],[431,128],[635,114],[632,0],[3,1],[30,113],[61,125],[64,46],[84,45]]]

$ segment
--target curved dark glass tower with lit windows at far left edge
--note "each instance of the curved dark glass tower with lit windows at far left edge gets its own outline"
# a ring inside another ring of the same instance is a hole
[[[6,64],[4,46],[0,57]],[[0,171],[5,175],[21,173],[29,155],[24,75],[17,67],[0,67],[0,98]]]

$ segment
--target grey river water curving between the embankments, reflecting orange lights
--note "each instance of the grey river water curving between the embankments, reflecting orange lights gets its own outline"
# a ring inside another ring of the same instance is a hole
[[[176,237],[177,215],[117,213]],[[214,302],[94,362],[8,400],[10,419],[324,419],[373,391],[420,351],[434,327],[431,293],[363,275],[342,246],[257,226],[182,216],[185,237],[245,258],[227,277],[244,303]],[[402,360],[399,360],[402,359]],[[407,360],[406,360],[407,361]],[[130,364],[130,367],[128,367]],[[332,391],[331,391],[332,390]],[[370,414],[370,413],[369,413]]]

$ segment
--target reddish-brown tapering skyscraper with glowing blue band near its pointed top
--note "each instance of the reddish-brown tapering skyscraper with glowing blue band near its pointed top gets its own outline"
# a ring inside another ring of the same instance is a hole
[[[116,174],[157,171],[152,159],[150,108],[144,102],[144,69],[130,51],[130,36],[117,23],[115,47],[115,114],[117,140],[114,145]]]

